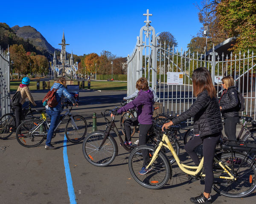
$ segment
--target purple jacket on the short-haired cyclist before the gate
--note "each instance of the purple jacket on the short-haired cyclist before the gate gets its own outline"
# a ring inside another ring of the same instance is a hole
[[[138,96],[133,101],[120,108],[117,113],[121,114],[122,112],[136,107],[138,110],[138,122],[143,125],[151,125],[153,119],[153,104],[154,95],[152,91],[140,90]]]

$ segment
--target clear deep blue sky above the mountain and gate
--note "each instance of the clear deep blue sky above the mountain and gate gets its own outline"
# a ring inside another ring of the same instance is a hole
[[[55,48],[61,48],[64,29],[67,51],[83,55],[102,50],[127,57],[134,49],[143,14],[149,9],[156,33],[169,31],[178,48],[186,48],[202,25],[192,0],[129,1],[3,1],[0,22],[36,28]],[[64,6],[62,6],[64,5]],[[4,9],[6,8],[6,9]],[[7,9],[8,8],[8,9]]]

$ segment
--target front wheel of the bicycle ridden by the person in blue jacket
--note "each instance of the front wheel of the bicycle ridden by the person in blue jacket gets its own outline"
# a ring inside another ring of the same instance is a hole
[[[76,143],[84,139],[87,132],[87,123],[83,116],[73,116],[73,119],[70,117],[68,120],[65,134],[68,141]]]

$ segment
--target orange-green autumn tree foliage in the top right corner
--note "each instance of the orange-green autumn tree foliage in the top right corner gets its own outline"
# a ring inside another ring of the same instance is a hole
[[[256,51],[256,0],[221,0],[216,10],[228,37],[236,37],[232,50]]]

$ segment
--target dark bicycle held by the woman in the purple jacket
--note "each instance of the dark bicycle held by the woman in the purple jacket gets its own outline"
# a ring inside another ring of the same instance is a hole
[[[116,111],[114,109],[113,111]],[[135,147],[139,145],[139,141],[137,140],[137,144],[134,145],[127,145],[124,144],[124,141],[122,137],[119,134],[119,131],[117,130],[117,127],[115,125],[115,116],[112,117],[111,121],[108,120],[107,116],[111,114],[110,110],[102,111],[102,116],[104,117],[106,123],[106,130],[105,131],[96,131],[93,133],[90,133],[83,142],[83,153],[85,159],[89,161],[91,164],[98,166],[98,167],[105,167],[111,164],[115,157],[118,154],[118,145],[116,144],[116,140],[113,138],[113,136],[110,134],[111,129],[116,133],[120,145],[127,150],[128,152],[131,152]],[[155,124],[155,122],[154,122]],[[160,136],[155,133],[154,128],[156,126],[153,125],[151,130],[148,132],[148,144],[154,144],[157,145],[158,142],[160,142]],[[158,127],[159,128],[159,127]],[[174,135],[171,133],[168,134],[170,142],[172,143],[175,152],[179,154],[180,145]],[[166,153],[168,153],[166,151]],[[172,160],[172,158],[170,158]]]

